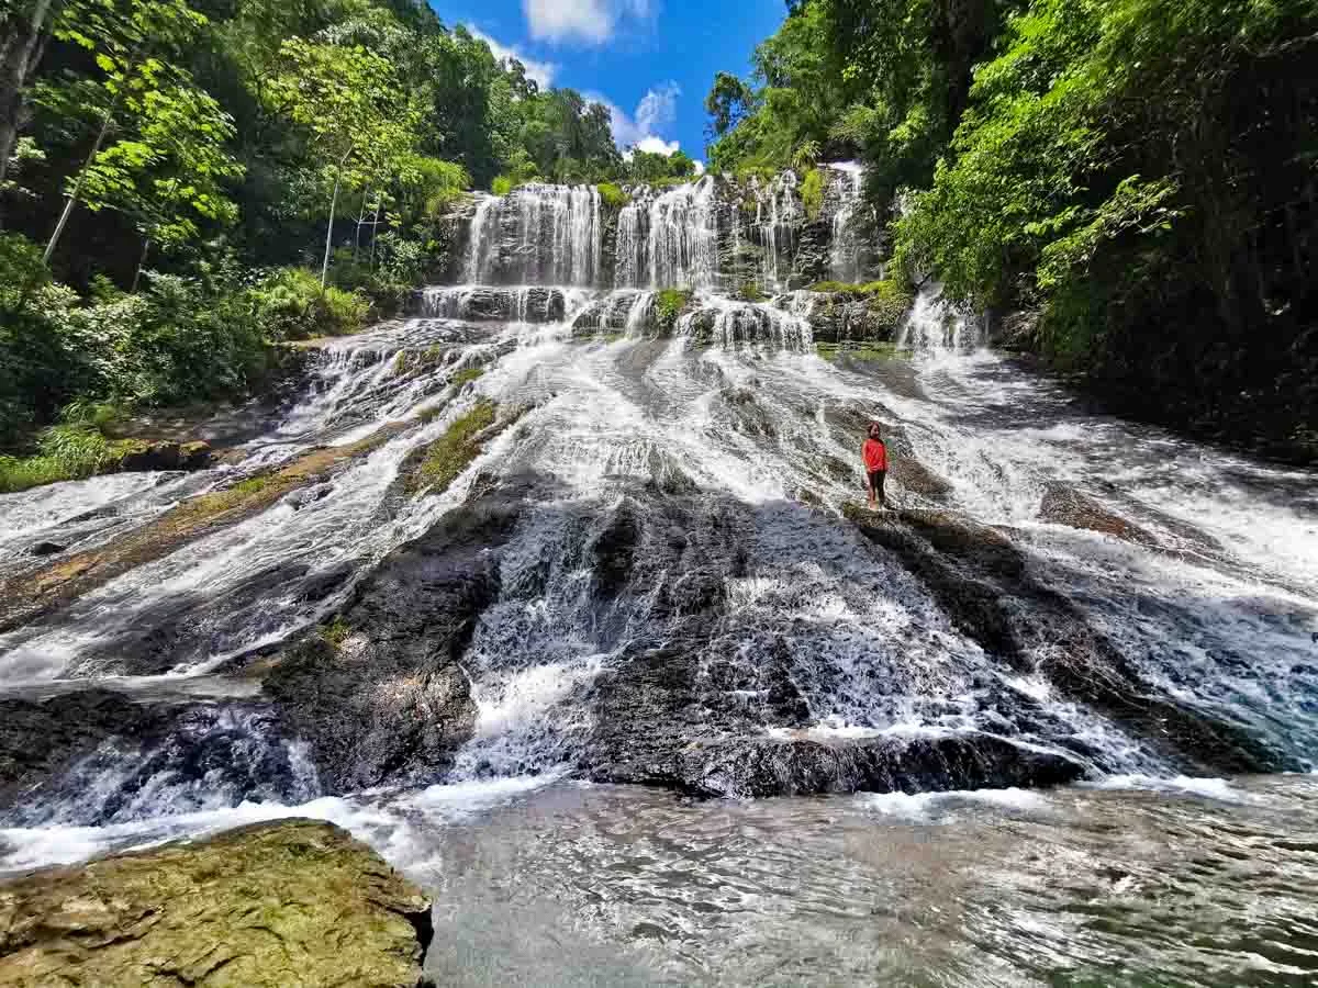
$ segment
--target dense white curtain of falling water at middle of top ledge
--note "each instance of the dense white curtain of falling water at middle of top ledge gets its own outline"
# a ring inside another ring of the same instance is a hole
[[[672,188],[651,203],[646,260],[652,288],[716,286],[718,217],[713,177]]]

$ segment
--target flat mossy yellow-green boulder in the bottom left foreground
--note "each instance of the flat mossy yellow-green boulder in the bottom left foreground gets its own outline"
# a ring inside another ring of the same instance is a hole
[[[414,988],[432,930],[369,847],[290,819],[0,885],[0,984]]]

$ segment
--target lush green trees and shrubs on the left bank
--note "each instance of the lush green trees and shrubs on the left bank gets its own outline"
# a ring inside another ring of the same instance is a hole
[[[397,308],[465,190],[692,167],[650,157],[415,0],[0,0],[0,451],[246,394]]]

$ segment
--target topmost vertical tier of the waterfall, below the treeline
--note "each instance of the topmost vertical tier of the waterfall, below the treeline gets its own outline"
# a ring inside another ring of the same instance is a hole
[[[771,180],[706,175],[671,188],[635,186],[610,206],[593,186],[530,183],[480,196],[460,223],[453,281],[763,292],[879,274],[873,211],[858,166],[836,165],[809,208],[793,173]]]

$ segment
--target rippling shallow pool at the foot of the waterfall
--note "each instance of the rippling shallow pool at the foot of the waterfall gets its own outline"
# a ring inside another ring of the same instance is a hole
[[[1318,780],[689,801],[546,780],[0,831],[0,869],[278,817],[432,894],[451,985],[1318,979]]]

